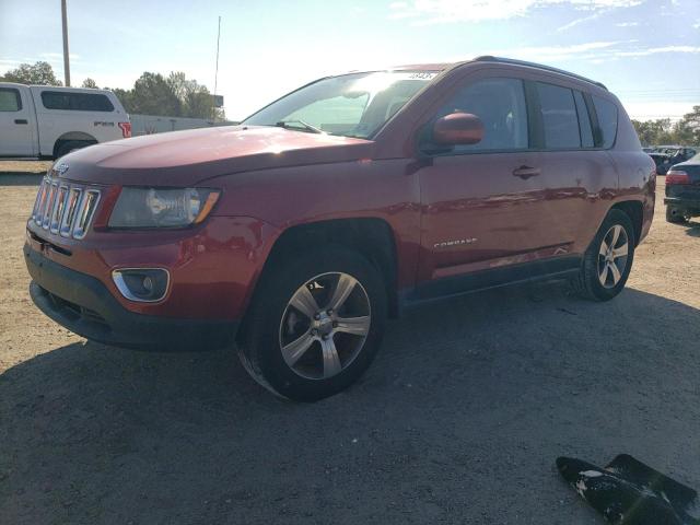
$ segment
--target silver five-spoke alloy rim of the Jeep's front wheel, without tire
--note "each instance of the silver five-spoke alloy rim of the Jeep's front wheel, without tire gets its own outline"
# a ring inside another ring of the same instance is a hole
[[[280,322],[284,362],[307,380],[327,380],[358,357],[370,332],[370,298],[343,272],[316,276],[301,285]]]

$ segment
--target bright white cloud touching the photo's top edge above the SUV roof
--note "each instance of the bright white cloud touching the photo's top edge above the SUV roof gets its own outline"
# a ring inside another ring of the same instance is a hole
[[[415,25],[430,25],[505,20],[552,5],[569,5],[578,11],[596,13],[641,3],[642,0],[413,0],[389,4],[389,18],[411,20]]]

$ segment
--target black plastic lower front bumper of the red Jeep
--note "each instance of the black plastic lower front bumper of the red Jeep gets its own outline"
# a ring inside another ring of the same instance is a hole
[[[30,294],[48,317],[95,341],[151,350],[206,350],[235,337],[238,323],[183,319],[126,310],[98,279],[55,262],[28,244]]]

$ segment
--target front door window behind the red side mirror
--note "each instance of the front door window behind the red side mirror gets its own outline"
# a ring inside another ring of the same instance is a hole
[[[471,113],[481,119],[483,140],[477,144],[456,145],[454,153],[527,149],[527,106],[522,80],[476,81],[459,90],[438,117],[458,112]]]

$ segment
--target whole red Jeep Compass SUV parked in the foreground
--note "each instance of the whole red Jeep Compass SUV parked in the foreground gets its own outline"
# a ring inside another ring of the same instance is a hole
[[[369,366],[385,319],[538,278],[617,295],[654,163],[600,83],[495,57],[312,82],[240,126],[63,156],[27,222],[30,293],[119,347],[231,345],[293,399]]]

